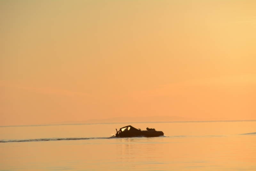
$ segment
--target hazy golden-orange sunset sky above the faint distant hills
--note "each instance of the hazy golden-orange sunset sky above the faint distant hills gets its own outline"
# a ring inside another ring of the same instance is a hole
[[[2,0],[0,125],[255,120],[255,8],[254,0]]]

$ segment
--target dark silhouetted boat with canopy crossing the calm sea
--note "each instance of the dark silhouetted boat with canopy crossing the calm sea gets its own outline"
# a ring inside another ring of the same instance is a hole
[[[147,128],[147,130],[140,130],[132,127],[131,125],[122,127],[117,131],[116,137],[136,137],[136,136],[145,136],[145,137],[156,137],[163,136],[163,131],[156,131],[154,128]]]

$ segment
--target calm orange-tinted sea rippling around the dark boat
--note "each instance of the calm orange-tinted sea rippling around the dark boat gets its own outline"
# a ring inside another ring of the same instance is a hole
[[[160,137],[116,138],[132,125]],[[0,127],[0,170],[256,170],[256,120]]]

